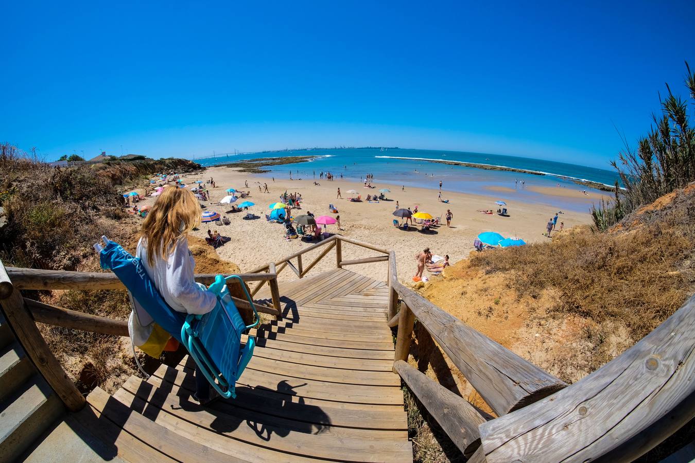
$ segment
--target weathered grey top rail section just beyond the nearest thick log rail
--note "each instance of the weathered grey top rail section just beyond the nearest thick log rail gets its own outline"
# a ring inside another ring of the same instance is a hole
[[[498,416],[566,386],[555,376],[477,332],[407,287],[398,282],[394,282],[393,287]],[[399,332],[400,328],[399,323]]]

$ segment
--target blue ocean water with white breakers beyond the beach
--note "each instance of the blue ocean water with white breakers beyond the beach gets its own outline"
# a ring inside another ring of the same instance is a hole
[[[243,155],[225,155],[215,158],[196,159],[204,166],[213,166],[238,160],[256,158],[275,158],[284,156],[312,155],[317,156],[311,162],[263,167],[270,172],[263,174],[266,177],[302,179],[316,178],[318,181],[320,172],[331,172],[337,178],[341,174],[343,178],[361,182],[366,174],[374,176],[375,185],[388,183],[391,185],[404,185],[405,187],[423,187],[439,190],[439,181],[443,183],[443,198],[445,192],[464,192],[473,194],[486,194],[499,196],[499,199],[518,199],[525,202],[539,202],[555,205],[558,208],[566,208],[586,212],[591,206],[591,201],[578,193],[576,198],[559,198],[532,192],[528,187],[564,187],[572,190],[589,190],[583,185],[578,185],[572,179],[589,180],[592,182],[614,185],[618,176],[614,171],[596,169],[581,165],[567,164],[533,158],[521,158],[517,156],[495,155],[485,153],[467,153],[464,151],[435,151],[420,149],[308,149],[281,151],[271,153],[250,153]],[[475,162],[528,171],[543,172],[546,175],[523,174],[511,171],[493,171],[465,167],[458,165],[445,165],[427,160],[445,160],[460,162]],[[316,177],[315,177],[316,176]],[[517,181],[515,181],[517,180]],[[521,181],[523,180],[523,186]],[[356,187],[358,185],[355,185]],[[500,192],[495,187],[512,189],[514,192]]]

